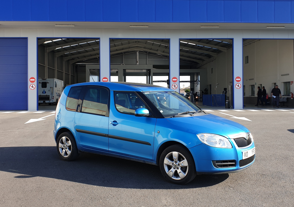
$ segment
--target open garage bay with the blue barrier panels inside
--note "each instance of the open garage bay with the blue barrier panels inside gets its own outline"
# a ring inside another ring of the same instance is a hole
[[[201,108],[233,107],[233,40],[180,39],[180,93]]]

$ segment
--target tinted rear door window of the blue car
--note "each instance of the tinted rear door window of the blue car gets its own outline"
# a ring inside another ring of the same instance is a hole
[[[105,88],[88,87],[83,100],[81,112],[104,115],[108,111],[108,90]]]

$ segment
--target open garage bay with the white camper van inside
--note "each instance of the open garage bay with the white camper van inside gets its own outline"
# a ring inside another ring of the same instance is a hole
[[[39,110],[55,110],[67,85],[97,82],[99,38],[38,38]]]

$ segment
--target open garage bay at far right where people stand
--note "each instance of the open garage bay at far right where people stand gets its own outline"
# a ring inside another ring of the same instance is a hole
[[[277,106],[271,95],[276,86],[281,91],[279,106],[294,107],[293,40],[243,39],[243,101],[244,108]],[[261,101],[257,93],[260,88]]]

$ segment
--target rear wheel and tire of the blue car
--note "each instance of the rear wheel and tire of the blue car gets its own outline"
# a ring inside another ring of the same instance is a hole
[[[70,132],[64,132],[57,138],[57,153],[61,160],[71,161],[78,157],[76,140]]]

